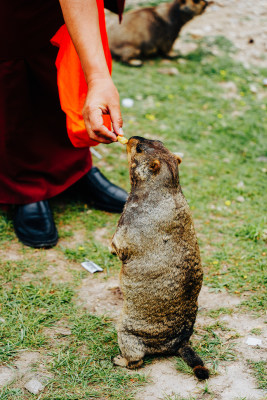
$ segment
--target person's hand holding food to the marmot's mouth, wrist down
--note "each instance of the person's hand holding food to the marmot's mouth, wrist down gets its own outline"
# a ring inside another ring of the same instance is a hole
[[[119,93],[111,77],[95,77],[88,82],[82,114],[91,139],[112,143],[117,141],[117,135],[123,135]],[[113,132],[103,124],[103,114],[110,115]]]

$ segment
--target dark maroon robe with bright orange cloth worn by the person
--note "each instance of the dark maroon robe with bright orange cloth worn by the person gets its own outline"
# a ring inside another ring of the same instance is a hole
[[[109,8],[122,13],[124,0],[107,1]],[[97,5],[111,71],[103,0]],[[57,0],[0,0],[2,204],[51,198],[92,166],[89,146],[95,143],[81,116],[87,87],[63,24]]]

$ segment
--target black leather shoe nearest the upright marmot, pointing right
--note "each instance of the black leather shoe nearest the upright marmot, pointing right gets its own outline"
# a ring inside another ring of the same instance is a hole
[[[105,178],[97,167],[92,167],[77,182],[77,189],[85,201],[109,212],[121,213],[128,198],[128,193]]]

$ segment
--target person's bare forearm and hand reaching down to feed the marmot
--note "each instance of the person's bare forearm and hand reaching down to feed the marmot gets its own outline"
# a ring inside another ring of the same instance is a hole
[[[96,0],[59,1],[88,85],[83,107],[86,130],[98,142],[116,141],[122,128],[119,94],[104,55]],[[110,114],[115,133],[103,125],[103,114]]]

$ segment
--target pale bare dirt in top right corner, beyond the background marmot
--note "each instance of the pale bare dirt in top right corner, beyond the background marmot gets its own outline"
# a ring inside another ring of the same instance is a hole
[[[126,0],[137,7],[147,0]],[[196,48],[195,39],[224,36],[235,46],[233,57],[245,66],[267,67],[267,2],[266,0],[215,0],[205,13],[189,22],[174,44],[174,49],[187,54]],[[213,49],[216,53],[216,48]]]

